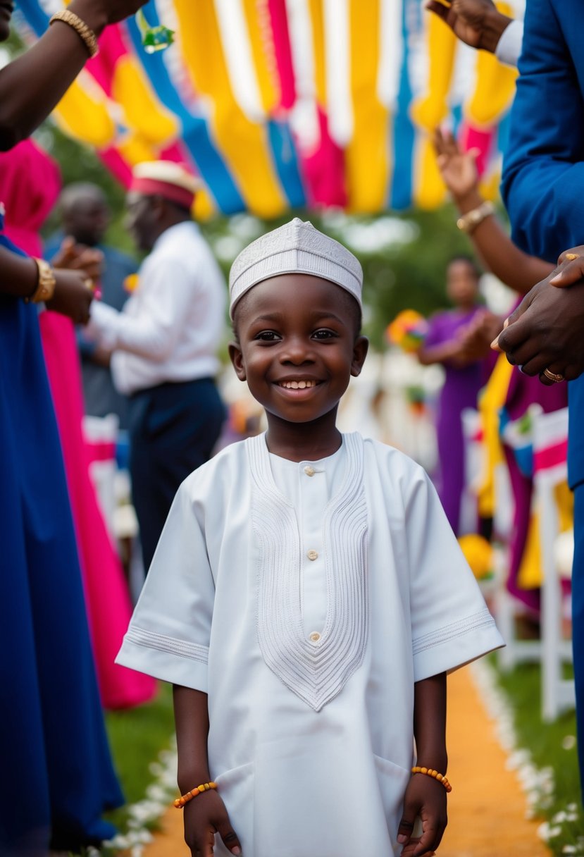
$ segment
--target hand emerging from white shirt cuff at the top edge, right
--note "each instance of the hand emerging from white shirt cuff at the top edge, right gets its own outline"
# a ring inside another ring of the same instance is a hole
[[[429,0],[426,9],[438,15],[466,45],[491,53],[512,20],[499,12],[492,0]]]

